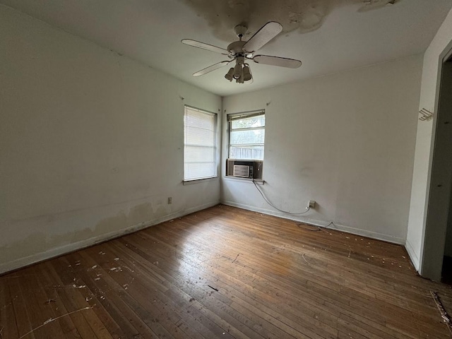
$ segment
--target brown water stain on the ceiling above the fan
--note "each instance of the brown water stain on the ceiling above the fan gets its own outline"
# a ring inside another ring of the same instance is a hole
[[[236,25],[246,25],[245,40],[268,21],[283,25],[283,34],[321,28],[328,15],[341,6],[355,6],[357,15],[402,0],[178,0],[204,18],[220,40],[237,40]]]

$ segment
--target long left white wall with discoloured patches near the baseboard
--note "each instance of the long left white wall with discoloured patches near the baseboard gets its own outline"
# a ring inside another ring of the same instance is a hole
[[[5,6],[0,46],[0,273],[219,202],[182,179],[220,97]]]

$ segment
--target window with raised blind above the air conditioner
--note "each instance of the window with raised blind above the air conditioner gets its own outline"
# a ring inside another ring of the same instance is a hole
[[[266,132],[264,111],[230,114],[229,158],[263,160],[263,140]]]

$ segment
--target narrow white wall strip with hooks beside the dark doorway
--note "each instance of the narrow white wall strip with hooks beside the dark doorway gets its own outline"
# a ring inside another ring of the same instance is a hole
[[[434,112],[436,109],[436,82],[438,79],[439,55],[452,40],[452,11],[439,28],[432,43],[424,54],[422,66],[422,83],[420,94],[420,109],[426,108]],[[422,244],[424,242],[424,227],[427,209],[427,191],[429,181],[429,158],[432,145],[432,121],[418,121],[415,165],[412,178],[412,194],[410,203],[410,218],[406,248],[412,263],[420,270]]]

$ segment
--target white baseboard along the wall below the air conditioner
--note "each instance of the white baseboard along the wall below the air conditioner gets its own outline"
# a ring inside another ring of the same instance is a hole
[[[307,225],[326,227],[326,226],[328,226],[328,224],[330,224],[330,222],[328,222],[328,221],[315,220],[315,219],[306,218],[306,217],[297,216],[297,215],[287,215],[285,213],[279,213],[279,212],[275,212],[273,210],[267,210],[265,208],[256,208],[255,206],[244,205],[242,203],[235,203],[234,201],[222,201],[222,204],[227,205],[227,206],[232,206],[232,207],[243,208],[244,210],[252,210],[254,212],[260,212],[263,214],[274,215],[275,217],[280,217],[280,218],[284,218],[284,219],[295,220],[297,222],[304,222]],[[334,226],[331,227],[331,229],[347,232],[350,234],[359,235],[362,237],[369,237],[372,239],[383,240],[383,242],[391,242],[393,244],[398,244],[398,245],[405,245],[405,240],[406,240],[405,238],[393,237],[388,234],[381,234],[381,233],[371,232],[371,231],[367,231],[367,230],[360,230],[359,228],[354,228],[354,227],[350,227],[350,226],[339,225],[336,222],[334,222]]]

